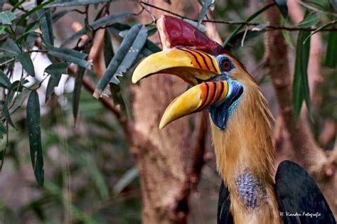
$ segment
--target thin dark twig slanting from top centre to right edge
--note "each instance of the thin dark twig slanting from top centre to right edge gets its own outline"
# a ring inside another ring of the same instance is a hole
[[[139,1],[139,4],[144,4],[146,6],[149,6],[154,9],[158,9],[160,11],[164,11],[168,14],[171,14],[173,16],[178,16],[179,18],[184,18],[188,19],[191,21],[198,21],[196,19],[191,19],[186,16],[181,16],[180,14],[173,13],[172,11],[166,10],[166,9],[161,9],[157,6],[154,6],[152,4],[146,3],[144,1]],[[260,23],[251,23],[251,22],[245,22],[245,21],[218,21],[218,20],[208,20],[205,19],[202,22],[204,23],[222,23],[222,24],[228,24],[228,25],[245,25],[245,26],[259,26],[261,25]],[[316,28],[300,28],[300,27],[289,27],[289,26],[266,26],[264,28],[267,31],[273,31],[273,30],[285,30],[285,31],[316,31]],[[321,31],[337,31],[337,28],[325,28],[321,29]]]

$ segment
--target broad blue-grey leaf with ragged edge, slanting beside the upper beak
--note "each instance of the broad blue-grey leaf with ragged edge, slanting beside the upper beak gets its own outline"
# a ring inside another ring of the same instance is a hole
[[[105,90],[109,82],[118,84],[119,81],[117,76],[122,76],[122,73],[129,69],[137,56],[139,55],[141,49],[144,47],[147,39],[147,29],[145,26],[140,24],[132,26],[130,31],[125,36],[122,41],[119,50],[112,58],[107,70],[102,75],[102,78],[97,84],[96,90],[94,92],[94,97],[99,98],[102,92]]]

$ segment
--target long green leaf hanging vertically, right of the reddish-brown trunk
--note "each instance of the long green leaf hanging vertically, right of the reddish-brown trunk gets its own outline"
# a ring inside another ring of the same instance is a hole
[[[293,81],[293,105],[296,117],[299,117],[303,100],[310,110],[310,93],[308,85],[308,60],[310,50],[310,40],[304,43],[304,39],[309,35],[308,31],[300,31],[296,45],[296,60]]]

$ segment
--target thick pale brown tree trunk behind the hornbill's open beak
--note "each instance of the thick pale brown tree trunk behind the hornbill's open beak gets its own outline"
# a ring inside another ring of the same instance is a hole
[[[152,3],[183,12],[183,1],[171,1],[171,5],[164,1]],[[154,9],[146,10],[156,18],[161,14]],[[143,22],[151,21],[149,14],[144,16],[141,18]],[[158,42],[159,39],[155,38],[154,41]],[[174,97],[185,90],[186,83],[164,74],[141,80],[140,85],[134,87],[131,151],[139,169],[143,223],[187,223],[188,198],[192,186],[198,183],[198,174],[193,175],[196,170],[191,168],[195,166],[192,161],[195,153],[193,141],[198,139],[198,134],[193,134],[188,117],[159,130],[164,110]],[[196,129],[204,132],[204,127],[197,125]],[[202,140],[201,144],[204,144]],[[196,164],[200,166],[203,159],[197,159],[203,158],[201,149],[196,150],[200,155],[194,156]],[[195,168],[200,174],[201,167]]]

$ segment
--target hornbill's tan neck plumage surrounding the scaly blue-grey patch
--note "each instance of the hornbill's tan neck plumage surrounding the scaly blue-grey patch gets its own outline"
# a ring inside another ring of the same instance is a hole
[[[231,211],[235,223],[279,223],[272,178],[272,115],[257,84],[252,80],[242,84],[244,93],[230,115],[225,130],[218,129],[211,122],[218,171],[230,191]],[[266,193],[262,203],[253,211],[242,206],[237,194],[235,181],[244,172],[256,178]],[[242,213],[244,210],[247,211],[246,215]]]

